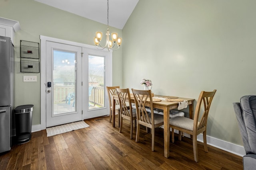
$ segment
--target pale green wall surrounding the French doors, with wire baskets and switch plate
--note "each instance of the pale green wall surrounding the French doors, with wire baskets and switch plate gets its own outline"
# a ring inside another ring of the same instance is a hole
[[[20,22],[15,34],[16,66],[20,61],[20,40],[40,43],[40,35],[94,45],[96,31],[106,32],[107,26],[80,16],[59,10],[34,0],[0,0],[0,17]],[[122,37],[122,30],[110,27]],[[104,39],[102,39],[104,41]],[[122,46],[113,51],[113,85],[122,86]],[[40,70],[45,72],[45,70]],[[23,76],[37,76],[37,82],[23,82]],[[14,107],[33,104],[32,125],[40,124],[40,73],[21,73],[16,68],[14,83]],[[43,106],[45,107],[45,106]],[[45,113],[42,113],[45,114]]]

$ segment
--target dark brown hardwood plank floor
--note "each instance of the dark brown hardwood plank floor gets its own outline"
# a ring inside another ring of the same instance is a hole
[[[141,131],[140,142],[130,139],[129,124],[123,132],[112,127],[108,117],[85,120],[90,127],[46,137],[46,130],[32,133],[30,142],[15,145],[0,155],[1,170],[242,170],[242,157],[198,142],[199,162],[193,157],[192,140],[183,137],[170,143],[164,157],[163,129],[156,129],[155,151],[151,134]],[[116,120],[117,122],[117,120]]]

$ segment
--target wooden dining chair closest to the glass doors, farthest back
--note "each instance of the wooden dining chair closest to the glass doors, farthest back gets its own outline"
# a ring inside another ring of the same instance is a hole
[[[109,100],[109,122],[111,122],[112,119],[112,96],[113,95],[117,95],[116,92],[116,88],[120,88],[120,86],[106,86],[107,91],[108,91],[108,100]],[[114,114],[118,113],[118,127],[120,127],[120,104],[119,104],[119,100],[116,100],[116,107],[115,107],[115,111]]]

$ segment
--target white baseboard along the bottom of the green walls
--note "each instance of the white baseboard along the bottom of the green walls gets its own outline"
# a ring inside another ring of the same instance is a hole
[[[32,132],[41,131],[41,125],[32,125]],[[176,129],[174,129],[175,133],[178,133]],[[190,137],[187,133],[184,133],[184,136]],[[244,156],[246,155],[244,147],[240,145],[236,145],[233,143],[229,143],[226,141],[222,141],[220,139],[216,139],[214,137],[206,136],[207,145],[210,145],[212,147],[216,147],[221,150],[225,150],[227,152],[230,152],[232,154],[236,154],[238,156]],[[203,142],[203,135],[199,134],[197,136],[197,141]]]

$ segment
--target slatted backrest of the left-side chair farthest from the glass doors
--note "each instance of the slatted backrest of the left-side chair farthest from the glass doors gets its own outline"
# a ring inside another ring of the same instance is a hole
[[[143,121],[146,124],[154,125],[154,108],[152,102],[152,95],[151,90],[135,90],[132,88],[132,93],[134,95],[135,105],[136,105],[136,113],[137,113],[137,120]],[[149,114],[146,111],[146,102],[150,104],[151,113]],[[151,115],[151,121],[150,117]]]

